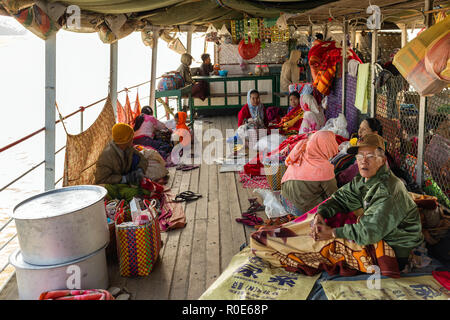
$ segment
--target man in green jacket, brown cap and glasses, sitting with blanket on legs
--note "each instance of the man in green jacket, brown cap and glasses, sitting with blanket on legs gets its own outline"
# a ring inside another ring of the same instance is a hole
[[[319,206],[311,234],[315,240],[344,238],[362,246],[384,240],[394,250],[402,270],[411,250],[423,242],[417,206],[402,181],[386,166],[382,137],[366,135],[347,152],[356,154],[359,174]],[[325,224],[324,218],[360,208],[364,213],[355,224],[339,228]]]

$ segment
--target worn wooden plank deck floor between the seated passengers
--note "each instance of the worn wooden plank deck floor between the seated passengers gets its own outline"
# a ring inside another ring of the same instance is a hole
[[[237,128],[237,117],[201,120],[204,132],[209,128],[222,131],[225,152],[225,130]],[[203,142],[203,149],[208,145]],[[249,198],[257,197],[252,189],[242,187],[237,172],[219,173],[220,167],[220,164],[202,163],[199,169],[191,171],[170,168],[168,186],[172,193],[191,190],[203,196],[184,204],[187,224],[183,229],[162,233],[164,246],[149,276],[121,277],[118,263],[109,263],[110,286],[125,288],[131,299],[137,300],[195,300],[219,277],[255,231],[235,218],[247,210]],[[264,212],[258,215],[265,217]],[[18,299],[15,275],[0,292],[0,300],[6,299]]]

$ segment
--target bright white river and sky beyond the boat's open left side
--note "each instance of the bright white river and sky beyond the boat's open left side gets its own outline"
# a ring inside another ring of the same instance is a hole
[[[14,19],[0,16],[2,23],[22,29]],[[186,43],[185,37],[180,37]],[[107,96],[109,82],[109,45],[100,41],[96,33],[78,34],[60,30],[56,38],[56,101],[63,116],[80,106],[86,106]],[[200,60],[203,38],[194,33],[193,56]],[[208,48],[211,52],[212,48]],[[150,79],[151,49],[135,32],[119,41],[118,90]],[[45,42],[26,31],[22,36],[0,36],[0,148],[20,139],[45,125]],[[169,50],[166,43],[158,46],[157,77],[175,70],[180,55]],[[199,64],[195,61],[192,66]],[[134,107],[136,93],[141,106],[149,104],[150,86],[144,85],[129,92]],[[118,96],[125,103],[125,94]],[[103,102],[84,112],[84,130],[97,118]],[[59,119],[58,114],[56,119]],[[80,114],[64,121],[70,134],[80,132]],[[65,132],[61,124],[56,126],[56,150],[65,145]],[[44,133],[0,153],[0,188],[44,160]],[[63,175],[64,150],[56,155],[58,180]],[[57,187],[61,187],[59,182]],[[26,175],[20,181],[0,192],[0,229],[10,219],[13,208],[21,201],[44,191],[44,165]],[[0,231],[0,248],[16,233],[14,221]],[[9,255],[19,247],[15,237],[0,250],[0,271]],[[0,288],[14,268],[9,265],[0,272]]]

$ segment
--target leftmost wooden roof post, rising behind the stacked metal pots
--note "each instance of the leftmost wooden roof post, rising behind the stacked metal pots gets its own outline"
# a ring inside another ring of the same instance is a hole
[[[56,34],[45,40],[45,191],[55,189]]]

